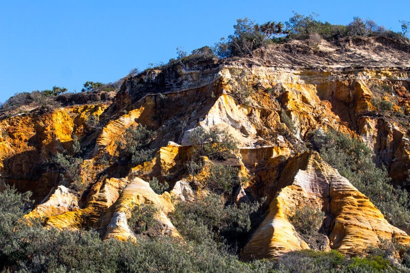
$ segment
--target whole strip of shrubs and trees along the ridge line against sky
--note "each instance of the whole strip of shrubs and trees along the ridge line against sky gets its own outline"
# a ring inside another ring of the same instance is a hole
[[[400,20],[402,32],[394,32],[379,26],[370,19],[354,17],[348,25],[333,25],[329,22],[321,22],[316,19],[318,14],[301,15],[295,13],[287,22],[269,21],[264,24],[256,24],[248,18],[237,19],[234,25],[234,34],[228,38],[221,38],[214,47],[204,46],[195,49],[191,54],[177,48],[177,58],[170,59],[167,65],[161,64],[160,67],[186,64],[188,62],[198,62],[210,58],[227,58],[233,56],[253,57],[255,49],[269,44],[286,43],[291,40],[316,40],[325,39],[336,42],[346,36],[375,36],[392,39],[397,43],[409,43],[406,37],[410,22]],[[127,77],[140,74],[138,69],[133,69]],[[101,83],[87,81],[81,92],[117,92],[121,80],[115,83]],[[65,94],[66,98],[61,98]],[[70,98],[67,98],[70,97]],[[66,88],[53,87],[52,90],[32,91],[17,93],[3,103],[0,113],[6,115],[23,113],[32,109],[43,107],[53,109],[61,104],[69,104],[70,99],[75,101],[75,93],[67,92]],[[90,101],[98,100],[98,96],[90,96]],[[84,101],[84,98],[83,100]],[[86,99],[87,101],[87,99]],[[83,102],[84,103],[84,102]],[[27,106],[27,107],[26,107]]]

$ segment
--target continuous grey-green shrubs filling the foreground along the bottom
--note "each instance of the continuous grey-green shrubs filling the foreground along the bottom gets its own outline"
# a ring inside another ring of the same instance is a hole
[[[182,242],[167,237],[140,238],[136,244],[117,240],[101,241],[98,234],[86,230],[57,230],[43,228],[38,222],[30,225],[21,220],[27,213],[29,193],[20,194],[10,187],[0,192],[0,267],[7,270],[30,272],[365,272],[389,270],[391,264],[381,257],[347,260],[333,250],[300,251],[289,253],[277,260],[241,262],[226,247],[210,238],[187,234]],[[211,197],[213,198],[213,197]],[[222,207],[219,201],[210,201]],[[252,206],[251,206],[252,207]],[[188,208],[187,208],[188,209]],[[195,211],[199,209],[199,212]],[[215,224],[244,223],[226,226],[231,230],[248,229],[245,218],[238,219],[238,211],[208,214],[206,207],[195,206],[190,221],[202,222],[205,235]],[[232,208],[233,209],[233,208]],[[252,210],[252,209],[251,209]],[[218,211],[218,209],[217,209]],[[220,210],[219,210],[220,211]],[[223,210],[222,210],[223,211]],[[239,208],[239,212],[243,208]],[[243,213],[242,213],[243,214]],[[241,214],[239,214],[241,215]],[[230,219],[230,217],[233,219]],[[196,220],[193,220],[196,219]],[[208,220],[206,220],[208,219]],[[181,228],[182,233],[191,231]],[[223,225],[222,225],[223,226]],[[192,226],[191,226],[192,227]],[[198,227],[200,228],[200,227]],[[200,230],[200,232],[202,232]],[[198,233],[200,236],[200,233]],[[206,237],[206,236],[205,236]]]

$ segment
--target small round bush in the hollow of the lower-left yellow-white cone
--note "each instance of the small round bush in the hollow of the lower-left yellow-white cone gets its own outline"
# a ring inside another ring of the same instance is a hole
[[[142,203],[135,205],[131,211],[131,217],[128,219],[128,226],[135,234],[140,234],[154,227],[156,221],[154,215],[158,209],[151,204]]]

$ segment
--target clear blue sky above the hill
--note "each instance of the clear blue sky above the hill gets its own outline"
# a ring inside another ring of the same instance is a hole
[[[354,16],[394,31],[410,20],[410,1],[42,1],[0,0],[0,101],[16,92],[81,90],[131,69],[168,62],[176,47],[212,46],[237,18],[286,21],[316,12],[332,24]]]

